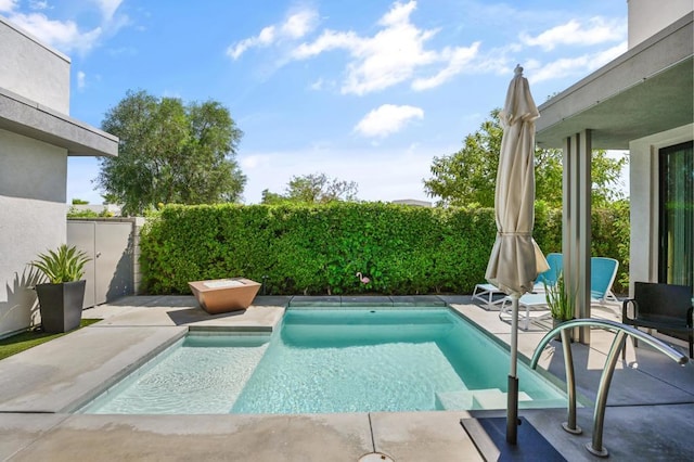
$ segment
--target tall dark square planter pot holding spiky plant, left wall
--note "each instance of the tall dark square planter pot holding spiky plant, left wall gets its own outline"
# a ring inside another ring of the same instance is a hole
[[[56,334],[79,328],[86,284],[82,280],[36,286],[44,332]]]

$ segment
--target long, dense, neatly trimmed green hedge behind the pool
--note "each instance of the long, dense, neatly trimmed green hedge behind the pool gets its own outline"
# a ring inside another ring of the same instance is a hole
[[[561,252],[561,213],[538,207],[536,215],[542,251]],[[594,229],[612,233],[609,221]],[[465,294],[485,279],[496,232],[489,208],[171,205],[147,220],[140,265],[153,294],[188,294],[188,281],[237,275],[265,281],[268,294]]]

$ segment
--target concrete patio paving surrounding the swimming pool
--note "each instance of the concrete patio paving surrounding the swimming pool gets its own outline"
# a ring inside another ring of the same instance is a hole
[[[86,310],[103,320],[48,344],[0,361],[0,458],[13,461],[205,460],[358,461],[378,451],[396,461],[484,460],[462,418],[505,415],[503,411],[372,412],[307,415],[94,415],[69,413],[118,377],[191,329],[272,330],[291,297],[256,297],[246,311],[208,315],[192,296],[138,296]],[[390,297],[362,298],[393,306]],[[349,306],[356,297],[331,298]],[[292,306],[310,305],[297,297]],[[403,297],[398,304],[449,304],[502,343],[510,326],[470,296]],[[616,319],[608,309],[596,309]],[[518,347],[527,361],[547,332],[531,324]],[[614,334],[592,332],[592,345],[573,345],[578,393],[595,398]],[[545,349],[540,367],[563,383],[558,343]],[[637,365],[638,364],[638,365]],[[648,347],[615,371],[605,414],[603,442],[609,460],[685,461],[694,458],[694,365],[680,367]],[[591,461],[593,408],[578,411],[583,434],[561,428],[565,409],[520,410],[569,461]],[[519,440],[523,445],[523,440]]]

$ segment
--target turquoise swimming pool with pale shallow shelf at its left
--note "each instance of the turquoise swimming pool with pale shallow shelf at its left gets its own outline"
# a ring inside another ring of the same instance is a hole
[[[505,409],[507,371],[507,351],[449,309],[288,309],[272,335],[189,333],[79,412]],[[518,375],[520,408],[566,406]]]

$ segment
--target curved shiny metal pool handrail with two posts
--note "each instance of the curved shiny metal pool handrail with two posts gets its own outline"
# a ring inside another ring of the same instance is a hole
[[[574,357],[571,356],[571,346],[568,338],[568,331],[574,328],[601,328],[607,331],[614,331],[617,333],[613,339],[607,359],[605,360],[605,368],[603,374],[600,377],[600,385],[597,386],[597,396],[595,398],[595,410],[593,412],[593,438],[591,442],[586,444],[586,449],[592,454],[606,458],[609,452],[603,447],[603,426],[605,423],[605,406],[607,405],[607,394],[609,393],[609,383],[615,372],[615,365],[619,358],[619,351],[625,347],[627,336],[631,336],[635,339],[645,342],[654,347],[656,350],[663,352],[668,358],[672,359],[678,364],[684,365],[689,361],[689,358],[665,344],[664,342],[655,338],[654,336],[639,331],[630,325],[622,324],[620,322],[609,321],[606,319],[575,319],[566,321],[552,329],[542,337],[538,344],[532,359],[530,360],[530,367],[536,369],[540,355],[544,350],[547,344],[554,338],[557,334],[562,336],[562,350],[564,351],[564,368],[566,371],[566,394],[568,399],[568,421],[562,424],[562,427],[574,435],[578,435],[582,429],[576,425],[576,378],[574,376]]]

